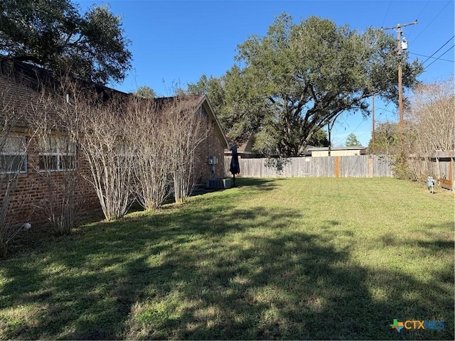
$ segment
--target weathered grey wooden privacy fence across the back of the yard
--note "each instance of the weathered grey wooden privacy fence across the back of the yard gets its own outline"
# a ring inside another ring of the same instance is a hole
[[[225,156],[225,174],[230,156]],[[379,178],[392,177],[390,158],[386,156],[320,156],[302,158],[240,158],[240,176],[247,178]]]

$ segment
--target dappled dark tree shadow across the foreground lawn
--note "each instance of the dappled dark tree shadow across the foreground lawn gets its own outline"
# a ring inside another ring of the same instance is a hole
[[[423,281],[355,266],[355,245],[305,232],[301,211],[230,200],[92,224],[4,261],[1,338],[453,340],[453,269]],[[398,333],[394,318],[446,329]]]

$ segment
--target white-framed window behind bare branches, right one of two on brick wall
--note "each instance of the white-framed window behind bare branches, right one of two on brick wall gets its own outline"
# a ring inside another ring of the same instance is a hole
[[[68,137],[41,136],[40,171],[69,171],[76,167],[76,146]]]

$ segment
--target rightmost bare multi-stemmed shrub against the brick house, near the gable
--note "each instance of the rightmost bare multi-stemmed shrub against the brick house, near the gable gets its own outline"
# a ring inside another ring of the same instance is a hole
[[[166,148],[171,153],[171,175],[174,198],[184,202],[194,185],[195,151],[207,138],[210,126],[203,112],[195,112],[199,97],[174,97],[165,108]]]

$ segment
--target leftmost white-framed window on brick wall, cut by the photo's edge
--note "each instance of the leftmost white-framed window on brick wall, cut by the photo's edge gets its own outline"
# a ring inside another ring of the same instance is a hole
[[[27,173],[26,136],[0,138],[0,173]]]

